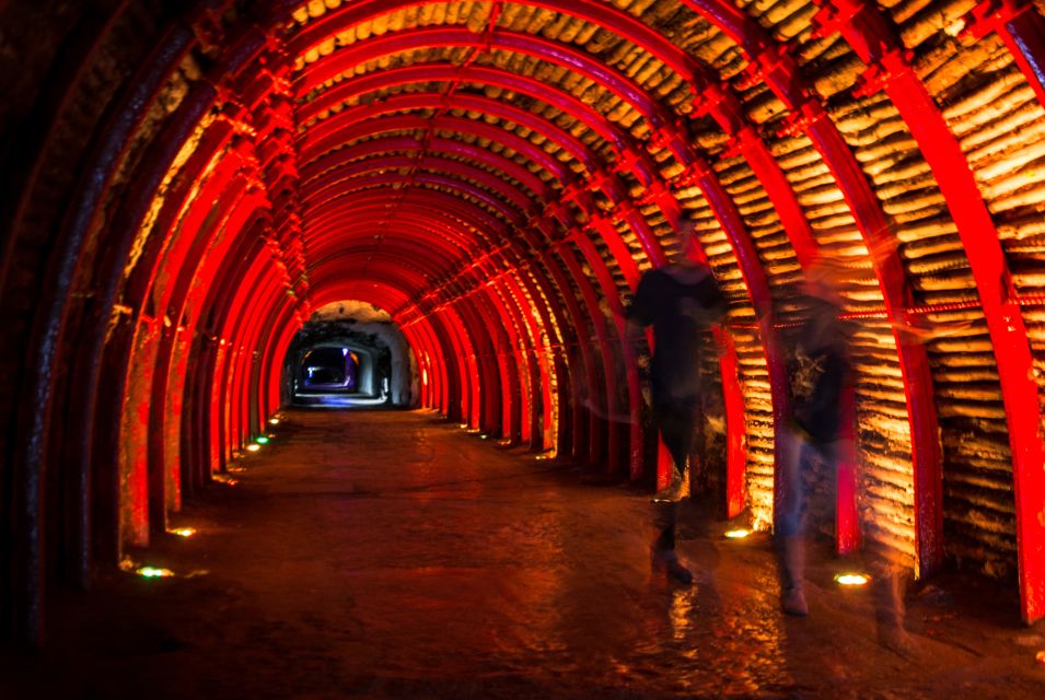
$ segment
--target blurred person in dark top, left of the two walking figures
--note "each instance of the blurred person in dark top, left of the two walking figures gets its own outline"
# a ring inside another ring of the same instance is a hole
[[[675,555],[675,518],[678,502],[689,495],[689,454],[700,420],[700,338],[725,315],[711,268],[685,256],[690,235],[683,234],[683,259],[642,276],[628,310],[632,338],[653,326],[653,422],[672,457],[671,481],[653,495],[652,561],[682,583],[693,574]]]

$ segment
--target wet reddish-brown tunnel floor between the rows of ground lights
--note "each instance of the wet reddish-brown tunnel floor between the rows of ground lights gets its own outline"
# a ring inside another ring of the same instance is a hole
[[[3,654],[0,697],[1045,697],[1042,629],[974,607],[989,592],[922,588],[902,658],[836,562],[786,618],[766,537],[696,508],[697,581],[673,585],[649,570],[648,497],[433,413],[289,411],[241,467],[172,523],[198,535],[132,552],[176,578],[58,600],[45,654]]]

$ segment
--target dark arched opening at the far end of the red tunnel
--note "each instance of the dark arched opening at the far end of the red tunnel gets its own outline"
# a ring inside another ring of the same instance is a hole
[[[315,408],[408,408],[417,363],[384,311],[344,301],[315,312],[283,361],[283,402]]]

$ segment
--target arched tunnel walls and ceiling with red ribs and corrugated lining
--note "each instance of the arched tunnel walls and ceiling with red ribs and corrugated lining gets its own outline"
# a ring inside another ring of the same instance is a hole
[[[402,331],[398,406],[655,488],[625,314],[687,222],[729,305],[722,512],[773,523],[794,300],[829,259],[857,375],[837,549],[996,578],[1042,618],[1043,12],[0,2],[4,637],[265,434],[330,305]]]

